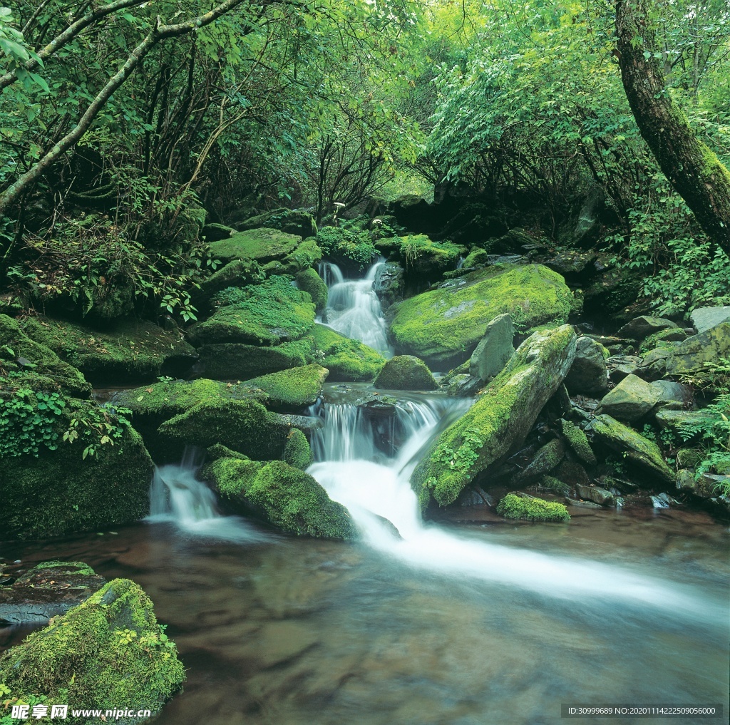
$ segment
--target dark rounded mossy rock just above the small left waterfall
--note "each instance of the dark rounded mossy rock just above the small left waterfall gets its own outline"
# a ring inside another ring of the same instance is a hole
[[[279,459],[289,431],[277,415],[250,399],[201,402],[158,428],[163,440],[180,448],[220,443],[258,461]]]

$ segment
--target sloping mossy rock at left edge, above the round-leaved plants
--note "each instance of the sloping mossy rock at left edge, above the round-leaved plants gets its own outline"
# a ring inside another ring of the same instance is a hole
[[[42,377],[46,389],[80,398],[91,395],[91,385],[79,370],[61,360],[46,345],[31,340],[18,321],[0,315],[0,376],[23,372],[30,374],[28,380]]]

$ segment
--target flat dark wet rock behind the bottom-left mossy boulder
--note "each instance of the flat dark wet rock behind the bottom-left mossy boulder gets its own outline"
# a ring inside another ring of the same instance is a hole
[[[106,583],[82,561],[43,561],[12,586],[0,587],[0,622],[47,622],[80,605]]]

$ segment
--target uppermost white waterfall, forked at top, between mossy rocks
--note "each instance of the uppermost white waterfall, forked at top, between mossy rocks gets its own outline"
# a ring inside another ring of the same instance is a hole
[[[388,345],[388,327],[380,300],[372,288],[383,264],[385,261],[377,261],[361,280],[346,280],[337,264],[320,264],[320,277],[329,291],[323,322],[333,330],[391,356],[393,350]]]

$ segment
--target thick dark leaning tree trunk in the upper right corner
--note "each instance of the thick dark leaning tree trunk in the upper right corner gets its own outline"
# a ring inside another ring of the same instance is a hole
[[[730,256],[730,172],[672,101],[646,0],[616,0],[616,33],[621,80],[642,137],[699,225]]]

